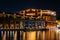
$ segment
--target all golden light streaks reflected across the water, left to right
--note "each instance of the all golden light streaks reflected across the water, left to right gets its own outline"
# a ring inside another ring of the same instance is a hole
[[[13,31],[12,31],[13,32]],[[7,32],[5,31],[4,35],[2,35],[2,40],[8,40]],[[13,34],[14,33],[14,34]],[[17,40],[20,38],[20,40],[60,40],[60,32],[57,32],[56,30],[47,30],[47,31],[29,31],[29,32],[21,32],[20,31],[20,37],[17,35],[18,32],[15,31],[10,34],[11,38],[10,40]],[[17,37],[18,36],[18,37]]]

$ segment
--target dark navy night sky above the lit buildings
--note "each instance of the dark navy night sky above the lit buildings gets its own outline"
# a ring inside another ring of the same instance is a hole
[[[60,17],[59,0],[0,0],[0,11],[15,13],[27,8],[50,9]]]

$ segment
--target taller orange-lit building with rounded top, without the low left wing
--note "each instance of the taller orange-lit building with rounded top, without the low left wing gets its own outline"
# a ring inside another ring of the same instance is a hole
[[[35,28],[55,28],[56,27],[56,12],[51,10],[27,9],[17,12],[21,19],[24,20],[24,27]]]

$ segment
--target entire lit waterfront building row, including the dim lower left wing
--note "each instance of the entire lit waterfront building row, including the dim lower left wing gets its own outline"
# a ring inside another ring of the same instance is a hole
[[[4,28],[56,27],[56,12],[51,10],[31,8],[14,14],[2,12],[0,19],[0,27]]]

